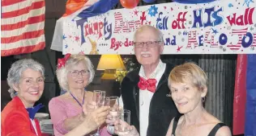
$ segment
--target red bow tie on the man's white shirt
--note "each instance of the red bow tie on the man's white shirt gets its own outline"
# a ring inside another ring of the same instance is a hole
[[[155,93],[156,92],[156,79],[144,79],[143,77],[139,76],[139,89],[145,90]]]

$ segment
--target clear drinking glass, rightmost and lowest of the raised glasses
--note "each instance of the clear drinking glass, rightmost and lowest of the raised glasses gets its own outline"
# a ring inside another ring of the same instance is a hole
[[[119,122],[117,124],[117,134],[119,136],[129,134],[130,130],[130,110],[123,109],[119,113]]]

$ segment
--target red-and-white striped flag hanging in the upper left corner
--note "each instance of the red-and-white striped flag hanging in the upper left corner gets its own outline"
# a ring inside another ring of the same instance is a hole
[[[2,0],[1,56],[45,48],[45,0]]]

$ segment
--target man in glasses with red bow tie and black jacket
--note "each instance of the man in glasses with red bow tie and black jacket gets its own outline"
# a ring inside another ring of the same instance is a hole
[[[120,103],[130,110],[130,125],[141,136],[164,136],[178,111],[169,94],[168,77],[173,66],[164,64],[161,31],[143,25],[134,34],[134,52],[141,64],[122,80]]]

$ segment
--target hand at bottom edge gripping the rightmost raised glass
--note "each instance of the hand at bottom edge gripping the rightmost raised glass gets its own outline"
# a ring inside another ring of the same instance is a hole
[[[139,136],[138,131],[134,126],[130,126],[127,122],[124,122],[120,119],[118,119],[115,123],[115,134],[118,134],[119,136],[122,136],[122,132],[120,130],[123,130],[123,128],[126,128],[128,130],[128,133],[125,134],[126,136]]]

